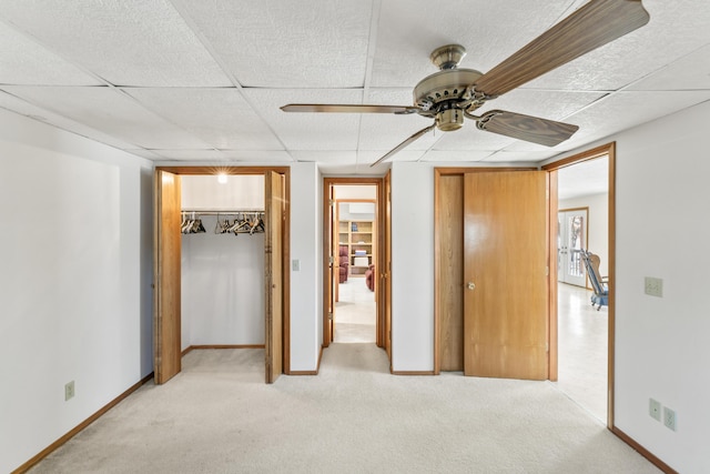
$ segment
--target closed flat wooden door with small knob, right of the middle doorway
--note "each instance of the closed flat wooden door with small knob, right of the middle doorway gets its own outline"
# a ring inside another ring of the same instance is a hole
[[[466,375],[547,379],[546,204],[542,171],[466,173]]]

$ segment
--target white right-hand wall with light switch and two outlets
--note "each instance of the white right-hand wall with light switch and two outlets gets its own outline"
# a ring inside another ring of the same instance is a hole
[[[709,120],[706,102],[605,140],[617,141],[615,423],[683,473],[710,472]],[[649,397],[676,411],[677,432]]]

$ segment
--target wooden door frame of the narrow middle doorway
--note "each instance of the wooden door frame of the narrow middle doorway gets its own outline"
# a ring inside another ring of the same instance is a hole
[[[386,300],[386,292],[384,291],[384,284],[386,279],[386,273],[383,272],[382,269],[385,266],[385,230],[386,230],[386,212],[385,212],[385,196],[384,196],[384,179],[383,178],[323,178],[323,349],[327,347],[331,344],[331,333],[329,333],[329,322],[331,315],[328,312],[328,295],[329,295],[329,285],[335,279],[335,271],[332,272],[333,278],[328,278],[331,265],[334,263],[331,262],[331,258],[333,256],[331,252],[334,248],[331,242],[329,234],[331,229],[333,229],[333,222],[331,221],[331,215],[337,215],[337,212],[331,213],[331,205],[335,205],[335,201],[331,201],[331,189],[336,185],[374,185],[376,186],[376,205],[375,205],[375,221],[377,229],[376,236],[376,248],[377,254],[375,259],[375,270],[376,270],[376,283],[375,283],[375,301],[376,301],[376,325],[375,325],[375,340],[378,347],[388,347],[389,340],[385,334],[385,312],[389,306],[389,301]],[[353,200],[338,200],[336,196],[336,201],[353,201]],[[335,218],[334,218],[335,219]],[[335,236],[334,236],[335,239]],[[335,246],[337,248],[337,246]],[[318,366],[320,366],[318,362]]]

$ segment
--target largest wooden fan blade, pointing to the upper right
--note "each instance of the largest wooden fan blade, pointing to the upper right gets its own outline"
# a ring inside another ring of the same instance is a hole
[[[641,0],[591,0],[476,81],[500,95],[648,23]]]

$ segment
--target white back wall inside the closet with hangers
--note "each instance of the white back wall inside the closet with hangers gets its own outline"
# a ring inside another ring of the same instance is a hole
[[[261,174],[183,175],[181,191],[183,210],[264,209]],[[182,349],[264,344],[264,234],[215,234],[217,215],[195,218],[206,232],[182,235]]]

